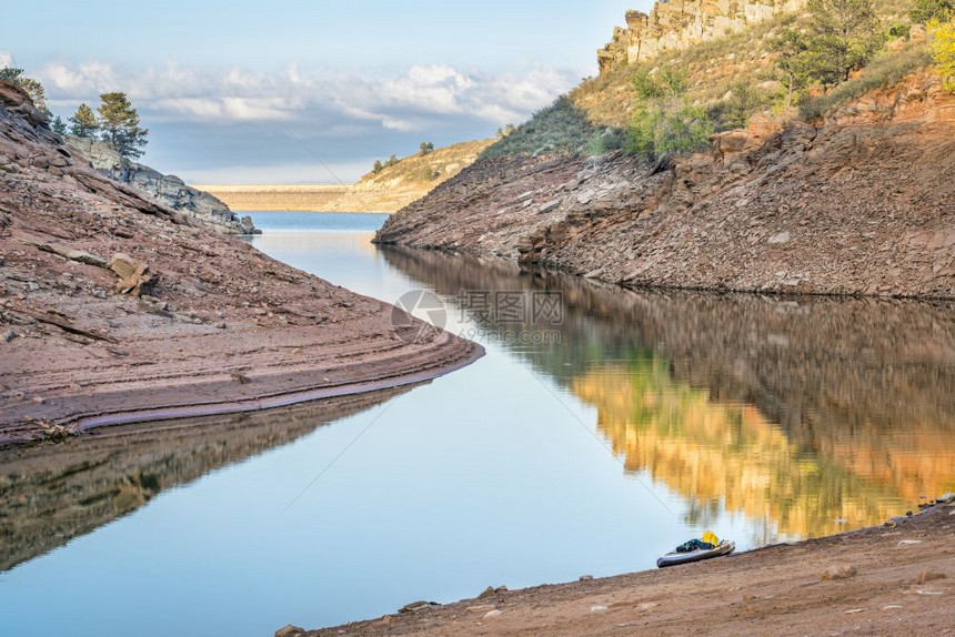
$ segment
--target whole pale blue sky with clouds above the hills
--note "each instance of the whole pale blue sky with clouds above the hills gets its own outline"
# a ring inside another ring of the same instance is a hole
[[[123,91],[142,162],[192,183],[350,183],[375,159],[492,136],[596,74],[651,0],[10,2],[0,67],[66,120]]]

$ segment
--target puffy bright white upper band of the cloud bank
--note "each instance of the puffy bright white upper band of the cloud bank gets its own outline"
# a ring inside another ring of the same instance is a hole
[[[263,73],[178,64],[131,71],[92,61],[51,63],[39,77],[51,103],[94,101],[102,92],[119,90],[141,112],[162,121],[300,120],[336,125],[361,120],[410,132],[426,131],[435,117],[471,117],[496,125],[522,120],[573,85],[576,73],[535,68],[495,77],[432,64],[411,67],[398,77],[374,78],[368,72],[321,77],[300,64]]]

